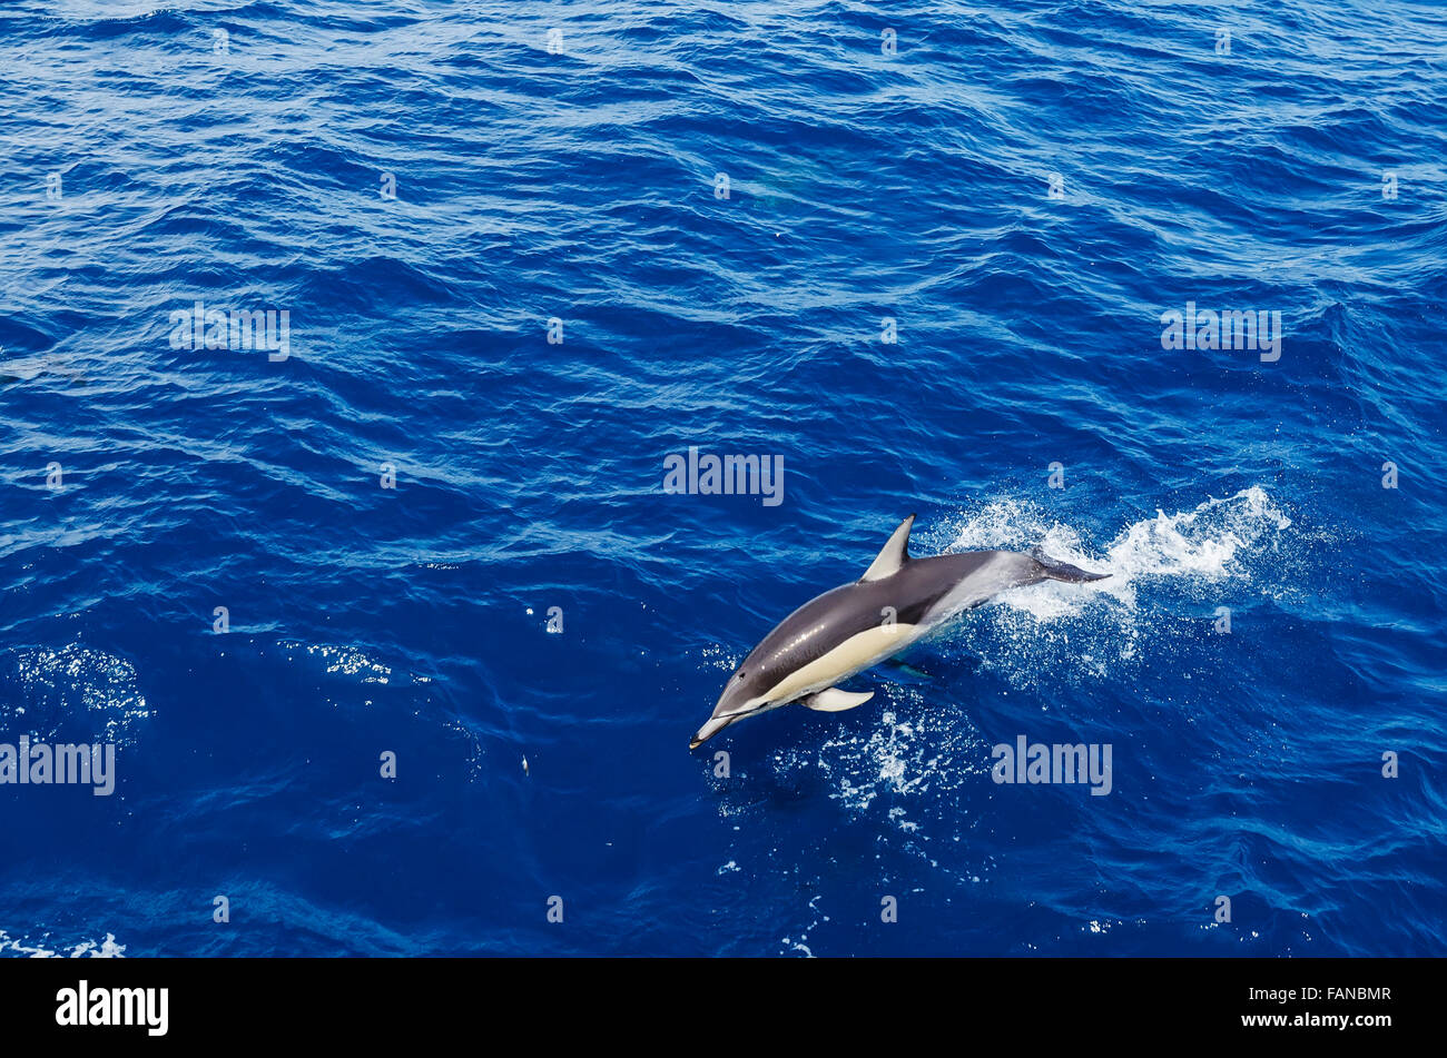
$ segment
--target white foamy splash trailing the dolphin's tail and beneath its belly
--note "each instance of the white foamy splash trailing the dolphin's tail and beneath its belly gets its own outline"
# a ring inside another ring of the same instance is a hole
[[[1043,543],[1052,556],[1111,578],[1046,581],[1009,591],[948,624],[920,649],[946,659],[968,658],[971,666],[1011,688],[1048,688],[1051,698],[1062,687],[1120,678],[1150,653],[1176,650],[1175,639],[1200,635],[1195,611],[1210,614],[1223,584],[1269,578],[1275,567],[1257,559],[1286,546],[1291,525],[1256,486],[1189,510],[1158,510],[1097,549],[1081,532],[1029,503],[993,500],[949,525],[948,551],[1024,551]],[[897,684],[881,668],[861,679],[874,682],[893,704],[880,713],[878,724],[862,734],[839,730],[816,749],[777,750],[774,772],[786,778],[813,769],[829,783],[829,796],[851,814],[877,814],[904,835],[928,835],[930,821],[956,814],[969,783],[988,770],[987,741],[964,704],[941,701],[942,694],[954,694],[948,684]]]

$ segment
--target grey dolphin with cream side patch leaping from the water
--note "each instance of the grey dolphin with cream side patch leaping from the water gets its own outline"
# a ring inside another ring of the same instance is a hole
[[[864,577],[809,600],[748,652],[724,685],[713,715],[689,743],[690,750],[729,724],[790,702],[820,713],[862,705],[873,691],[854,694],[836,684],[1007,588],[1110,577],[1058,562],[1039,548],[1029,554],[967,551],[910,558],[913,525],[915,515],[900,522]]]

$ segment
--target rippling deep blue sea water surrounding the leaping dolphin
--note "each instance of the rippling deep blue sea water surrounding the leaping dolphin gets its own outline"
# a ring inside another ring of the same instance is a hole
[[[1443,952],[1440,4],[10,0],[0,142],[6,954]],[[910,512],[1113,575],[689,753]]]

